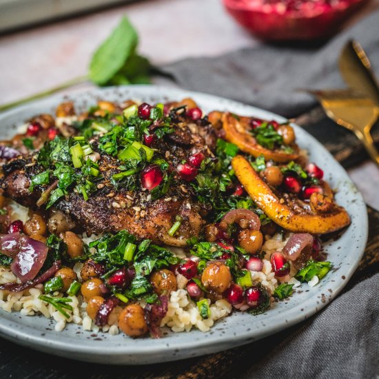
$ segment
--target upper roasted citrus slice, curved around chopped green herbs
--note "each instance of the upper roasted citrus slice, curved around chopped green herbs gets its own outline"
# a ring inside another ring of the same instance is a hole
[[[286,154],[277,150],[268,150],[259,145],[254,136],[249,134],[247,130],[247,120],[247,117],[236,117],[229,112],[224,113],[223,130],[225,131],[225,139],[237,145],[243,152],[251,154],[256,158],[263,155],[266,161],[272,159],[276,162],[289,162],[295,161],[298,158],[298,154]]]

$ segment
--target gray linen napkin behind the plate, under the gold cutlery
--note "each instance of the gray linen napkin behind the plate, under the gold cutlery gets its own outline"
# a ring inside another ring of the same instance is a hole
[[[183,88],[262,107],[293,117],[314,106],[299,88],[343,88],[338,54],[349,39],[357,39],[373,68],[379,70],[379,12],[345,30],[321,47],[260,45],[221,57],[184,59],[161,71]]]

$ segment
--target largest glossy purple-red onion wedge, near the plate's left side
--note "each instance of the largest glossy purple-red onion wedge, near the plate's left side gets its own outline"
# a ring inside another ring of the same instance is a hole
[[[25,283],[34,279],[45,263],[48,247],[38,240],[27,236],[19,237],[19,252],[10,268],[14,275]]]

